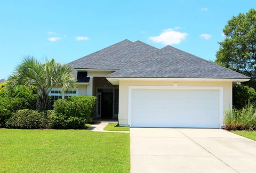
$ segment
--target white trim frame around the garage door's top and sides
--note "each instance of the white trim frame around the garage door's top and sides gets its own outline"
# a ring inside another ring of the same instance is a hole
[[[203,89],[203,90],[219,90],[219,128],[221,128],[223,123],[223,106],[224,106],[224,96],[222,86],[128,86],[128,124],[131,126],[131,105],[132,105],[132,89]]]

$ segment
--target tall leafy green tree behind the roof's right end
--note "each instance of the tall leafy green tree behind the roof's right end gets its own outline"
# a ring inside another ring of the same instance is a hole
[[[220,42],[216,63],[256,78],[256,11],[240,13],[223,29],[226,38]]]

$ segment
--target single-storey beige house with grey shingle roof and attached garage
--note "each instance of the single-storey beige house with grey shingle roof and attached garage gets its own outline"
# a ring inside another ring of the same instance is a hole
[[[172,46],[127,39],[69,64],[77,78],[69,95],[97,96],[96,118],[131,127],[222,128],[232,84],[250,80]]]

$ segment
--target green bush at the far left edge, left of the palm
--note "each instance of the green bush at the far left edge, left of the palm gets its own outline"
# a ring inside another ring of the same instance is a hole
[[[5,127],[5,122],[17,110],[26,108],[25,98],[0,97],[0,127]]]

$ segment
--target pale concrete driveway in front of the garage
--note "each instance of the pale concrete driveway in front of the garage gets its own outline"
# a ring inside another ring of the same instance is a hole
[[[221,129],[131,128],[131,172],[256,172],[256,142]]]

